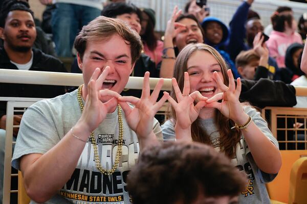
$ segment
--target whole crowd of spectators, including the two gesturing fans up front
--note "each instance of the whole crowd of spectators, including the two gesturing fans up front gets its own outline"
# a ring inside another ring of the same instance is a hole
[[[12,166],[31,203],[270,203],[265,184],[281,156],[257,109],[306,106],[292,85],[307,86],[307,13],[297,23],[278,7],[267,36],[253,2],[228,26],[206,1],[187,1],[162,41],[156,12],[125,1],[40,0],[51,10],[41,27],[28,1],[3,1],[1,69],[67,72],[57,57],[75,57],[71,70],[84,81],[0,83],[3,97],[51,98],[14,115]],[[125,89],[131,76],[143,77],[141,90]],[[152,91],[149,77],[160,78]],[[170,92],[161,91],[164,78]],[[163,121],[155,115],[167,100]]]

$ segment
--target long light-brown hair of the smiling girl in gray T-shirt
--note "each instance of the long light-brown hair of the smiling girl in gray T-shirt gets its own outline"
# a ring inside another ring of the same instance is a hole
[[[173,77],[177,80],[180,90],[183,91],[184,72],[187,71],[187,62],[191,57],[191,55],[196,51],[207,52],[216,59],[216,61],[218,62],[218,64],[220,64],[222,68],[224,84],[228,86],[229,85],[229,79],[227,75],[228,66],[223,57],[213,47],[203,43],[196,43],[196,44],[188,44],[187,46],[185,46],[178,55],[176,63],[174,65]],[[172,98],[174,98],[177,101],[173,89],[170,95]],[[171,108],[171,117],[173,118],[175,124],[176,114],[173,108]],[[215,110],[214,122],[217,125],[218,131],[220,132],[221,150],[224,151],[228,157],[230,158],[233,157],[235,154],[235,146],[240,140],[240,132],[236,129],[231,130],[230,127],[234,125],[234,122],[231,119],[224,116],[217,109]],[[191,134],[193,141],[211,144],[209,136],[206,134],[205,131],[202,130],[199,118],[192,123]]]

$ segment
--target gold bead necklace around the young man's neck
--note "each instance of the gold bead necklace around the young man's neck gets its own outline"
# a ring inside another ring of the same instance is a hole
[[[81,98],[82,87],[83,87],[83,84],[81,86],[79,86],[78,95],[77,95],[81,112],[83,112],[83,108],[84,108],[83,103],[82,103],[82,98]],[[117,151],[116,151],[116,158],[115,158],[114,166],[110,170],[106,170],[106,169],[102,168],[101,162],[100,162],[100,159],[99,159],[99,155],[98,155],[98,147],[97,147],[97,143],[96,143],[96,140],[95,140],[94,131],[91,133],[91,142],[92,142],[93,147],[94,147],[95,164],[96,164],[97,169],[105,175],[111,175],[112,173],[114,173],[114,171],[118,167],[119,159],[122,156],[122,151],[123,151],[123,148],[122,148],[122,146],[123,146],[123,117],[122,117],[120,105],[117,105],[117,109],[118,109],[118,127],[119,127],[118,148],[117,148]]]

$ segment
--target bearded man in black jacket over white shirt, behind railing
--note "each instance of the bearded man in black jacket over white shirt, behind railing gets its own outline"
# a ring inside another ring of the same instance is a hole
[[[0,15],[0,68],[35,71],[67,72],[56,58],[33,48],[36,29],[33,12],[25,2],[6,1]],[[55,97],[65,93],[63,86],[38,86],[1,83],[0,94],[5,97]],[[5,103],[0,105],[0,127],[5,124]]]

